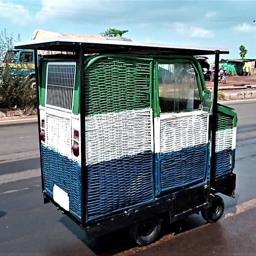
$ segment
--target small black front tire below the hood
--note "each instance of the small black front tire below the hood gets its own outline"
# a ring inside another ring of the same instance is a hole
[[[218,221],[224,212],[224,201],[221,197],[215,195],[212,197],[212,205],[211,207],[202,210],[202,217],[208,222],[213,223]]]

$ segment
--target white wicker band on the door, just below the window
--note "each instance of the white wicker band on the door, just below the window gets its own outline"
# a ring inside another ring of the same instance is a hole
[[[161,118],[161,114],[160,114]],[[161,119],[160,151],[179,151],[207,143],[207,115]]]

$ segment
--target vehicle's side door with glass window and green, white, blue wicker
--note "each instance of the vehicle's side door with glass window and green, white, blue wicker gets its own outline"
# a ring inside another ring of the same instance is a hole
[[[196,66],[159,60],[154,90],[156,195],[206,183],[209,115]]]

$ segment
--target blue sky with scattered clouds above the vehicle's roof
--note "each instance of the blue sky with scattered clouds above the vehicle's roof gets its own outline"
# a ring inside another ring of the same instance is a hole
[[[0,0],[0,31],[21,41],[38,29],[97,35],[117,28],[135,42],[228,48],[221,59],[238,59],[240,45],[256,58],[254,20],[256,0]]]

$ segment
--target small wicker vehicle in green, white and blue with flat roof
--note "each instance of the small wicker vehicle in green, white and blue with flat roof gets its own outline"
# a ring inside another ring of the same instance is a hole
[[[56,53],[35,67],[45,203],[88,237],[129,227],[140,246],[163,220],[222,216],[237,117],[217,104],[218,73],[212,93],[194,56],[215,55],[217,70],[228,50],[80,38],[17,48]]]

